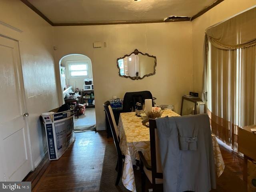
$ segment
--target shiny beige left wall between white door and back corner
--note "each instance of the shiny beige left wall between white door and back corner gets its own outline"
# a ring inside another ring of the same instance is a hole
[[[0,34],[20,40],[32,159],[37,166],[47,150],[45,131],[39,116],[58,106],[53,28],[20,0],[1,0],[0,8],[0,20],[23,31],[18,32],[0,24]]]

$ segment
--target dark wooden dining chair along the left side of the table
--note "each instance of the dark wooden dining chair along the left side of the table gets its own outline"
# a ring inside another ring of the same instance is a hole
[[[124,155],[122,155],[120,146],[119,146],[119,137],[118,137],[118,129],[116,126],[116,122],[115,122],[115,118],[114,118],[114,114],[112,112],[112,108],[110,106],[110,102],[106,101],[103,104],[104,109],[106,111],[107,117],[108,117],[108,121],[110,124],[110,129],[112,132],[112,136],[114,138],[114,144],[116,146],[116,152],[117,152],[117,164],[116,164],[116,171],[117,173],[117,178],[116,178],[116,185],[118,185],[121,175],[122,175],[122,168],[123,168],[123,159],[125,158]]]

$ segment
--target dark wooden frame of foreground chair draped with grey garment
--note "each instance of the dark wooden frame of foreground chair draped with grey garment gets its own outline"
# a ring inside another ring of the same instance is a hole
[[[141,188],[145,191],[146,177],[152,184],[153,192],[163,191],[163,171],[160,160],[159,139],[156,130],[156,120],[149,120],[150,132],[150,154],[151,160],[146,160],[143,153],[139,151],[140,171],[141,171]]]

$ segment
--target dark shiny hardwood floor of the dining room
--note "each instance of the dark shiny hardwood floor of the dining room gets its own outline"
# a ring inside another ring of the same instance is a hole
[[[32,192],[98,192],[105,147],[111,142],[105,131],[76,133],[76,141],[59,160],[47,156],[25,180],[32,181]],[[220,150],[226,168],[242,179],[243,160],[222,146]]]

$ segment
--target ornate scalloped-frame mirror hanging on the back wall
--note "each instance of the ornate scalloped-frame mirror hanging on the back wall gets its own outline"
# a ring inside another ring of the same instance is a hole
[[[117,67],[120,77],[143,79],[156,74],[156,56],[135,49],[131,54],[118,58]]]

